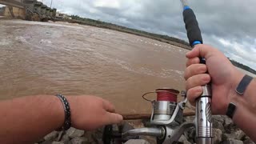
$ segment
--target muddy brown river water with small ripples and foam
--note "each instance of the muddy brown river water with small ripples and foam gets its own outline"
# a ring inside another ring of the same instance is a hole
[[[142,94],[184,89],[186,51],[91,26],[0,20],[0,98],[90,94],[118,112],[145,113]]]

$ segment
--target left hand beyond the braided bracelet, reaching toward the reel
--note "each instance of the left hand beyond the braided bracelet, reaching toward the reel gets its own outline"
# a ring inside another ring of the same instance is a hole
[[[95,130],[99,127],[122,122],[122,116],[114,113],[114,106],[105,99],[94,96],[66,97],[70,103],[71,122],[80,130]]]

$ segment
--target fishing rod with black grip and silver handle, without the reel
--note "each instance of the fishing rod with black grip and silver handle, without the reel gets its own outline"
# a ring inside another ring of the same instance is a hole
[[[187,37],[190,42],[190,46],[202,44],[202,34],[198,26],[197,18],[194,15],[194,11],[190,9],[186,0],[181,0],[183,6],[183,19],[186,25]],[[206,64],[204,58],[200,58],[200,63]],[[212,118],[210,108],[211,88],[210,85],[202,86],[202,94],[196,102],[196,137],[197,143],[212,143]]]

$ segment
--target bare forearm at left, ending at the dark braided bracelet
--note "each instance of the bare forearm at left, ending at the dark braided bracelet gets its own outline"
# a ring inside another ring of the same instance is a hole
[[[54,96],[30,96],[0,102],[0,142],[33,143],[64,122],[62,102]]]

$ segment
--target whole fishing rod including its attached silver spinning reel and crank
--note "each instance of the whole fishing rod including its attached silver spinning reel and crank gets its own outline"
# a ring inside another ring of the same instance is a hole
[[[186,0],[181,0],[181,2],[187,37],[190,46],[194,48],[194,46],[202,44],[201,30],[199,29],[194,12],[190,9]],[[200,58],[200,62],[206,64],[204,58]],[[118,131],[114,131],[112,126],[106,126],[102,137],[103,142],[105,144],[120,143],[125,142],[129,138],[134,138],[134,136],[147,135],[155,137],[158,144],[171,144],[178,142],[183,132],[194,126],[196,129],[196,143],[212,144],[213,129],[210,109],[210,85],[202,86],[202,89],[203,93],[196,102],[194,122],[183,122],[183,110],[187,102],[186,93],[180,93],[178,90],[170,88],[162,88],[142,95],[142,98],[152,105],[150,126]],[[147,94],[153,93],[156,94],[156,99],[150,100],[146,98]],[[178,95],[184,98],[181,102],[177,101]]]

